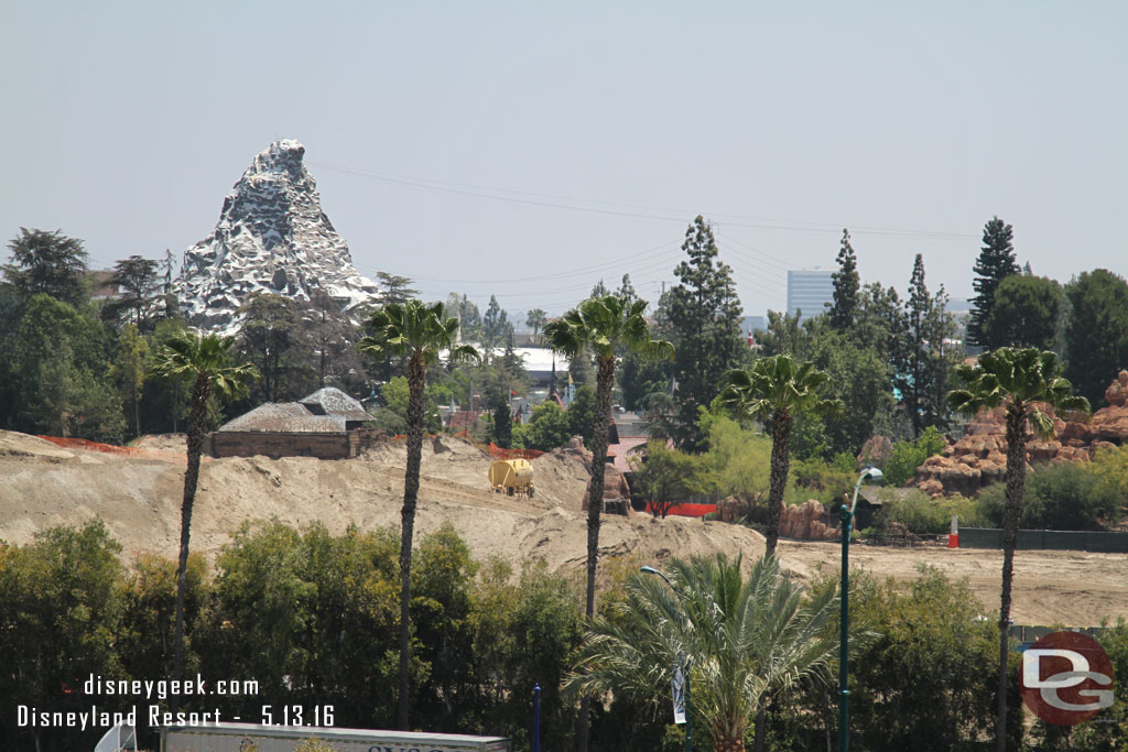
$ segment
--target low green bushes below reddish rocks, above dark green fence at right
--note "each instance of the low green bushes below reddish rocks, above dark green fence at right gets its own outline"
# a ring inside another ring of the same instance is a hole
[[[1002,527],[1006,485],[990,485],[979,492],[978,498],[990,522]],[[1100,530],[1119,517],[1120,497],[1116,486],[1096,468],[1063,462],[1041,465],[1026,474],[1020,528]]]

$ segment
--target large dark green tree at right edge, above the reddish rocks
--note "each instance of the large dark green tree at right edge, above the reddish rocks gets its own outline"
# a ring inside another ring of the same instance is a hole
[[[1104,390],[1128,365],[1128,283],[1107,269],[1083,272],[1066,285],[1066,377],[1077,393],[1103,404]]]

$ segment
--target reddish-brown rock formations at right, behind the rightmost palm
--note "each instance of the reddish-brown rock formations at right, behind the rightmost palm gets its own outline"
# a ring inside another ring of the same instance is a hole
[[[1026,442],[1028,462],[1087,462],[1103,448],[1128,444],[1128,371],[1120,371],[1104,391],[1108,407],[1087,421],[1064,421],[1043,405],[1054,418],[1054,437]],[[915,485],[931,496],[972,496],[984,486],[1003,480],[1006,472],[1006,422],[1003,408],[981,410],[968,424],[963,437],[943,454],[929,457],[917,469]]]

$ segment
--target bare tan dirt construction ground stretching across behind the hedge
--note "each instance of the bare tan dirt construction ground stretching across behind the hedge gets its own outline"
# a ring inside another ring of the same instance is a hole
[[[494,494],[490,455],[450,436],[423,444],[416,534],[450,521],[474,556],[499,555],[518,567],[543,560],[564,573],[582,568],[587,514],[582,498],[588,472],[570,454],[549,453],[532,462],[534,498]],[[302,527],[314,522],[340,533],[399,524],[406,449],[387,442],[349,460],[290,457],[204,458],[192,520],[193,550],[217,552],[247,520],[276,517]],[[59,446],[44,439],[0,431],[0,540],[27,543],[37,531],[100,519],[132,559],[142,551],[175,558],[184,483],[183,436],[147,436],[127,451]],[[634,556],[661,566],[671,556],[726,552],[752,560],[764,538],[742,525],[688,517],[606,515],[600,529],[601,563]],[[800,578],[838,570],[837,542],[781,540],[785,568]],[[909,581],[931,565],[966,577],[997,613],[1003,555],[934,546],[855,546],[851,561],[878,577]],[[1019,551],[1013,618],[1016,623],[1099,626],[1128,618],[1128,557],[1083,551]]]

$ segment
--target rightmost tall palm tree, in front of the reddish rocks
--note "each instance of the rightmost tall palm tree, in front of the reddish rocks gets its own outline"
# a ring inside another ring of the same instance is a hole
[[[1026,428],[1042,437],[1054,435],[1055,410],[1089,413],[1089,400],[1073,395],[1073,384],[1061,375],[1057,355],[1037,347],[999,347],[979,359],[977,365],[960,364],[955,380],[961,386],[948,393],[958,412],[975,415],[982,408],[1003,408],[1006,418],[1006,504],[1003,512],[1003,590],[998,610],[998,709],[995,746],[1006,749],[1006,657],[1011,620],[1011,583],[1014,549],[1019,539],[1022,492],[1026,481]]]

